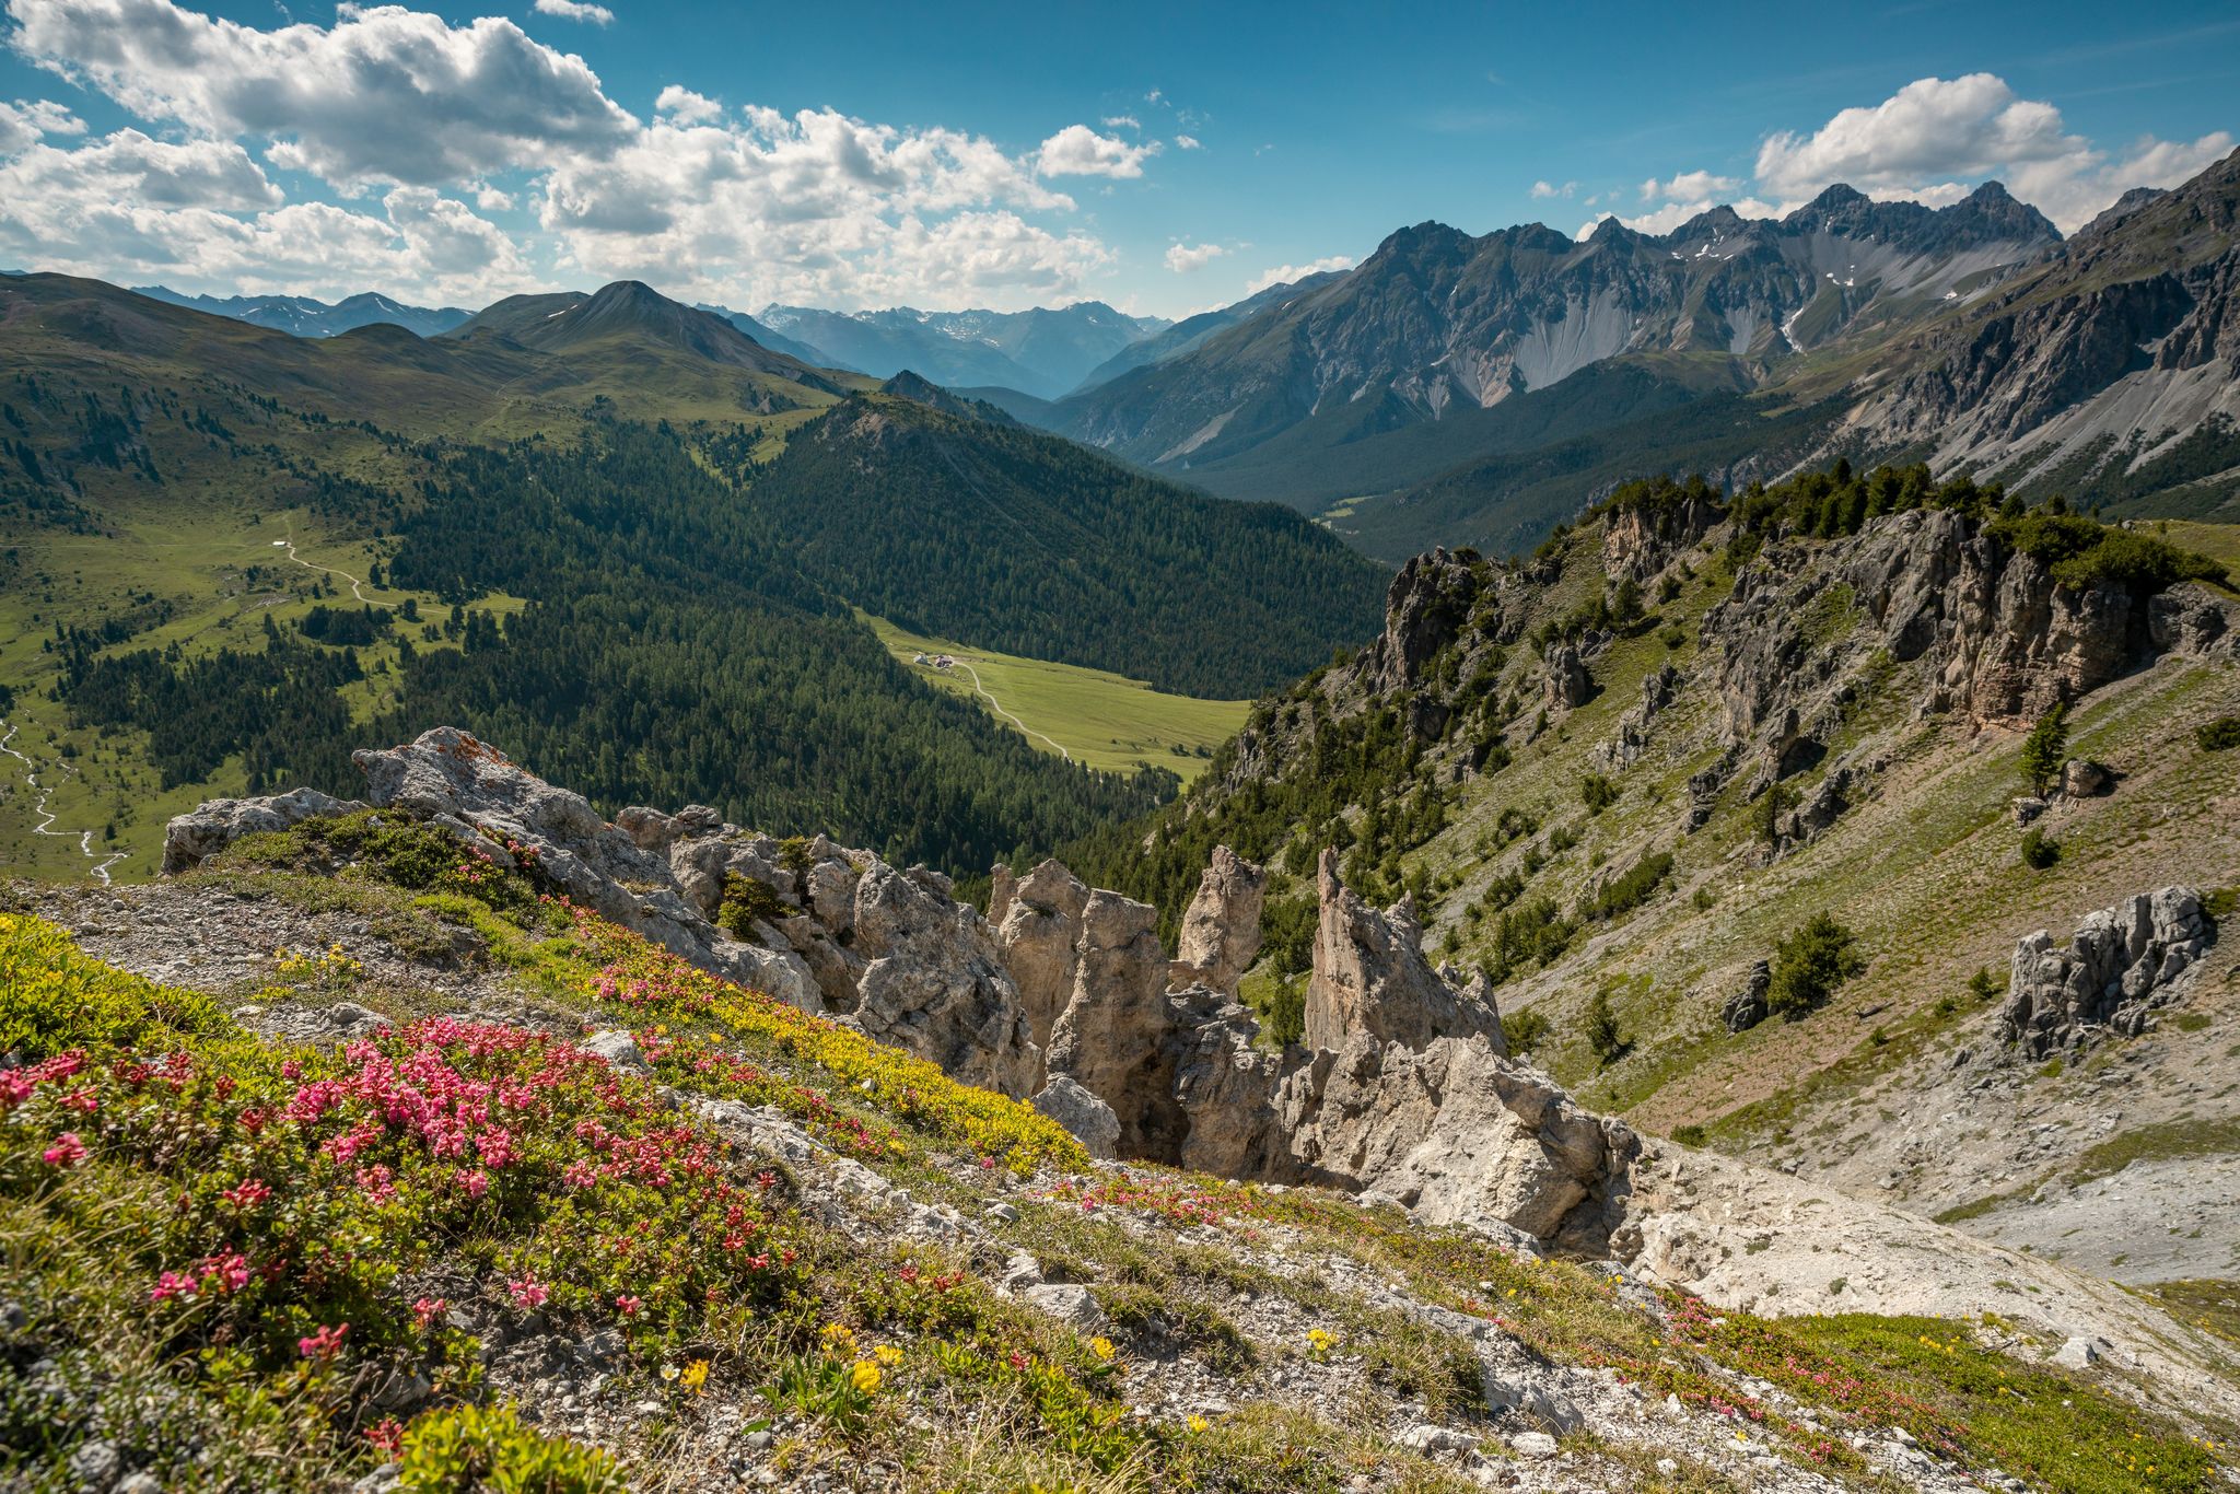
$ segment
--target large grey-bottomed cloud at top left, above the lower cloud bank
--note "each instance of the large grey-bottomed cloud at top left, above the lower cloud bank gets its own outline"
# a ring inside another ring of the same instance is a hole
[[[452,27],[343,7],[258,31],[172,0],[9,0],[16,49],[141,119],[271,139],[267,159],[343,188],[444,186],[556,150],[609,150],[636,121],[582,58],[504,18]]]

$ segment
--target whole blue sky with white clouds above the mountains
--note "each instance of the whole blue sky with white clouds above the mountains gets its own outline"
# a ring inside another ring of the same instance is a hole
[[[202,291],[1180,316],[1427,217],[2074,226],[2240,130],[2229,4],[0,11],[0,264]]]

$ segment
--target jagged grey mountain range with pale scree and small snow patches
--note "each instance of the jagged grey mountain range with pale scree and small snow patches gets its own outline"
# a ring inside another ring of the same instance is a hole
[[[1828,188],[1779,222],[1714,208],[1664,235],[1604,220],[1577,242],[1541,224],[1416,224],[1335,284],[1064,401],[1060,428],[1185,468],[1340,410],[1389,430],[1496,405],[1628,352],[1763,370],[1980,296],[2059,240],[1996,184],[1942,211]]]

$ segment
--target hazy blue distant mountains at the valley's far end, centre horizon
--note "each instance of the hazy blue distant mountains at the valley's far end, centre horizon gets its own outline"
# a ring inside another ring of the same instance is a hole
[[[905,367],[948,387],[999,385],[1055,399],[1116,352],[1165,332],[1100,300],[1033,311],[818,311],[764,307],[759,325],[829,354],[836,367],[892,379]]]

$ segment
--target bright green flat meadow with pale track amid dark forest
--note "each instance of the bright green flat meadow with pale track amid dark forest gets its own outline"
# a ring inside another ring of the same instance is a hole
[[[1068,757],[1091,768],[1129,773],[1154,766],[1189,782],[1205,771],[1212,748],[1243,726],[1245,710],[1252,708],[1252,701],[1163,694],[1140,679],[1104,670],[925,638],[885,618],[865,616],[865,620],[903,663],[916,654],[952,654],[970,663],[988,694],[1024,723],[1028,741],[1044,750],[1064,748]],[[961,672],[925,670],[925,676],[943,690],[988,706]]]

